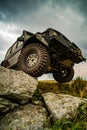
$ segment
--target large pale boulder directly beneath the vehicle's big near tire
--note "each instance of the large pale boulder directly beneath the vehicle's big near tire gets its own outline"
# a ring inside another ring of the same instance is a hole
[[[0,96],[24,104],[32,98],[38,81],[22,71],[0,66]]]

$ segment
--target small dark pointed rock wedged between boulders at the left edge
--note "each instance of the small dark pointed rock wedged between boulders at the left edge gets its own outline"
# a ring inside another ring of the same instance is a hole
[[[0,114],[6,113],[17,106],[18,106],[17,103],[12,103],[9,100],[0,98]]]

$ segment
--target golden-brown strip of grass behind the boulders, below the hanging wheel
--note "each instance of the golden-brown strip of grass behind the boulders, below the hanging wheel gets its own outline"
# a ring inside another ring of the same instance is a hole
[[[65,93],[87,98],[87,81],[80,77],[69,83],[58,83],[55,80],[39,81],[38,90],[40,93]]]

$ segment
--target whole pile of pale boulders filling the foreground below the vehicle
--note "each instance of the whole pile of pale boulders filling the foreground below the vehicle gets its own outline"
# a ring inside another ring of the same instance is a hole
[[[73,118],[84,98],[47,92],[35,98],[38,80],[0,66],[0,130],[51,130],[52,121]]]

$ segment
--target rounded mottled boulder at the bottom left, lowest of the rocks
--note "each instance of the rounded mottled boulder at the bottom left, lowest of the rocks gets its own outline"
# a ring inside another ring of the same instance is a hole
[[[42,106],[21,106],[5,115],[0,130],[48,130],[47,112]]]

